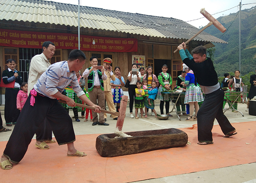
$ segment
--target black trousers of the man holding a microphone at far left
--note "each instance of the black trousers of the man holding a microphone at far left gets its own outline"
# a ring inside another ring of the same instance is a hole
[[[21,113],[17,109],[17,94],[18,88],[5,88],[5,106],[4,106],[4,118],[5,124],[10,125],[16,123]]]

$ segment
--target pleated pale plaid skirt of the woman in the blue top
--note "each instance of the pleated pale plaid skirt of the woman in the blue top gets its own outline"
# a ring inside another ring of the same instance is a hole
[[[201,88],[195,86],[194,83],[187,86],[187,91],[185,94],[184,104],[189,104],[189,102],[202,102],[204,97],[202,95]]]

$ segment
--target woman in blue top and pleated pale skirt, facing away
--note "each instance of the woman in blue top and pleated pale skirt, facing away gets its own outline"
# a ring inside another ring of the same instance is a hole
[[[187,117],[186,121],[194,121],[197,120],[197,112],[199,110],[198,102],[204,101],[204,97],[202,95],[201,88],[197,86],[197,83],[195,83],[194,72],[188,67],[187,70],[189,70],[189,72],[186,74],[185,82],[182,82],[182,84],[187,85],[184,103],[189,104],[189,117]],[[195,116],[193,116],[194,107]]]

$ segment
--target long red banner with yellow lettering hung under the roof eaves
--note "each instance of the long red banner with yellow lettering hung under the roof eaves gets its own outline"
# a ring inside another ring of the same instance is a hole
[[[78,49],[78,34],[0,29],[0,46],[42,48],[42,44],[45,41],[52,41],[56,49]],[[131,52],[137,51],[137,48],[137,39],[80,35],[80,50]]]

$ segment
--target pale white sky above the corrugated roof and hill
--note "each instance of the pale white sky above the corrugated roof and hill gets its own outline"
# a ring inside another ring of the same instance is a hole
[[[78,5],[78,0],[51,1]],[[213,17],[217,19],[220,16],[238,12],[239,2],[242,2],[242,10],[256,6],[256,0],[80,0],[80,5],[159,17],[172,17],[186,22],[190,21],[189,24],[199,28],[209,23],[200,13],[201,8],[205,8],[211,15],[215,14]]]

